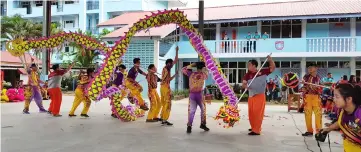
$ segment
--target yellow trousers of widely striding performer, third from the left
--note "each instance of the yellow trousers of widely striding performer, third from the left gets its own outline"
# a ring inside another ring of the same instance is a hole
[[[83,111],[81,112],[81,114],[87,114],[89,111],[89,108],[90,108],[91,101],[88,97],[84,96],[83,89],[76,88],[73,107],[71,108],[69,115],[74,115],[76,108],[78,108],[78,106],[81,102],[84,103]]]

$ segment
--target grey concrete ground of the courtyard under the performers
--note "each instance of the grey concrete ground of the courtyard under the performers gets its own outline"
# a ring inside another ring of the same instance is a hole
[[[90,118],[68,118],[72,96],[64,96],[63,117],[54,118],[38,113],[34,102],[30,115],[22,114],[24,103],[1,104],[2,152],[307,152],[300,131],[305,131],[303,114],[287,113],[286,106],[267,105],[261,136],[247,135],[247,105],[242,104],[242,119],[234,128],[224,129],[213,120],[221,103],[207,106],[210,132],[199,129],[199,112],[192,134],[186,134],[187,100],[173,102],[170,121],[172,127],[159,123],[121,122],[110,117],[108,100],[93,103]],[[49,101],[44,101],[47,108]],[[80,113],[79,106],[77,114]],[[295,119],[295,123],[292,119]],[[324,121],[327,122],[327,121]],[[342,152],[342,138],[338,132],[330,136],[333,152]],[[314,138],[305,138],[309,148],[319,151]],[[321,143],[324,152],[327,143]]]

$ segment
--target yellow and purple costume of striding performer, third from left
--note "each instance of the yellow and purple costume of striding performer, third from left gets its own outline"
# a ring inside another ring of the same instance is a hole
[[[75,89],[75,99],[73,102],[73,107],[71,108],[71,110],[69,112],[69,116],[75,116],[74,112],[75,112],[76,108],[78,108],[78,106],[81,102],[84,103],[84,107],[81,112],[81,116],[87,116],[87,113],[88,113],[90,105],[91,105],[91,100],[89,99],[89,97],[84,95],[84,88],[85,88],[85,85],[87,85],[89,83],[89,80],[90,80],[90,78],[87,75],[83,75],[80,77],[78,86]]]

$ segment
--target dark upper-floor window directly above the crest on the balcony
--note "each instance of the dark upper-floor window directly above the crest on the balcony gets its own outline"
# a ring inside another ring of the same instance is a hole
[[[262,21],[261,31],[267,32],[271,38],[300,38],[302,20]]]

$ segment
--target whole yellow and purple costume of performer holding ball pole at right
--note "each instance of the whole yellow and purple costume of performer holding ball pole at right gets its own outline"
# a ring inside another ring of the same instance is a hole
[[[303,77],[307,83],[320,84],[320,77],[318,75],[312,76],[307,74]],[[315,113],[316,132],[322,128],[322,102],[320,98],[320,88],[317,86],[304,84],[304,100],[305,100],[305,119],[307,132],[313,133],[312,128],[312,112]]]

